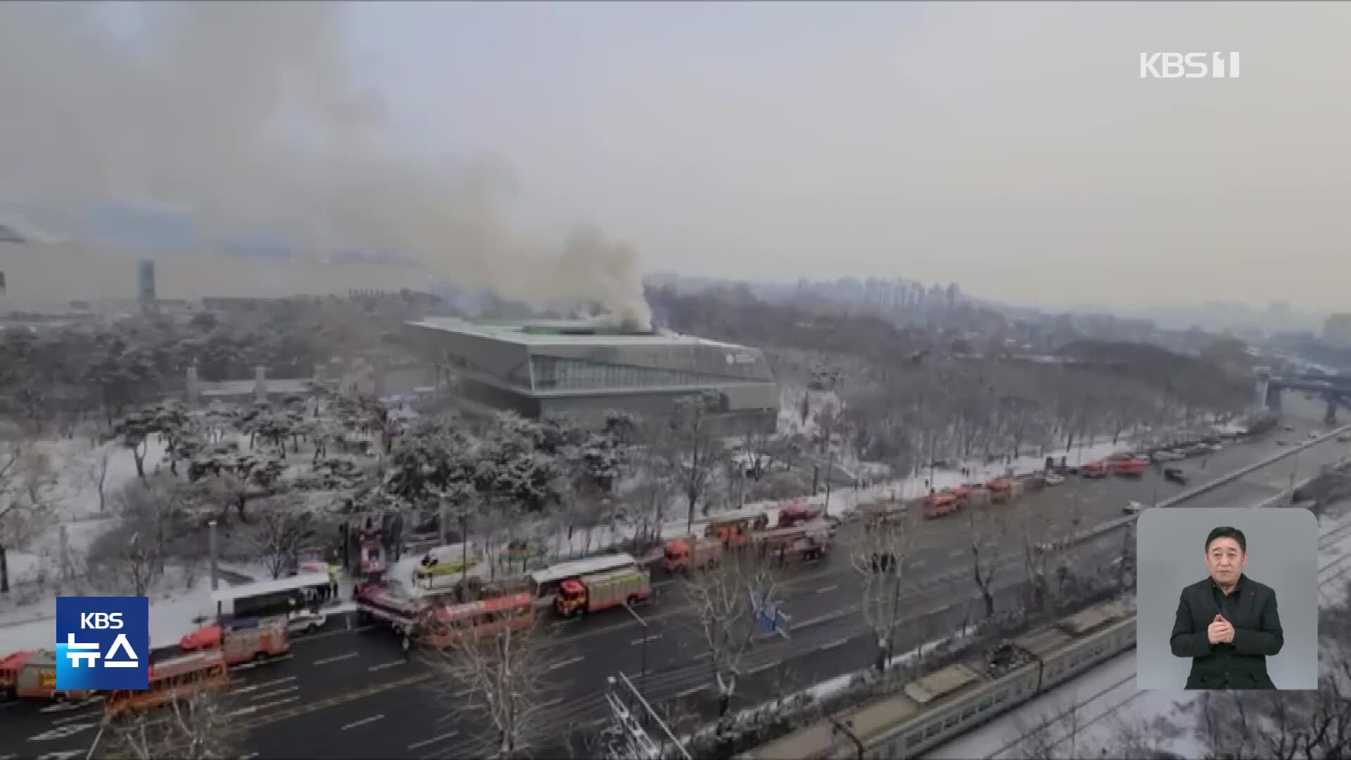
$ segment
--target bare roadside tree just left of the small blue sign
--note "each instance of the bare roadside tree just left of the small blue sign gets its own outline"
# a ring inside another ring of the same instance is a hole
[[[716,563],[694,569],[684,583],[682,609],[708,652],[708,667],[717,686],[717,713],[725,715],[736,691],[742,660],[757,632],[763,630],[757,613],[777,606],[780,568],[755,546],[728,548]]]

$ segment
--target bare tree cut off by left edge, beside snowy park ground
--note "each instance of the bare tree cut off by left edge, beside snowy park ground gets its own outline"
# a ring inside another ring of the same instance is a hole
[[[0,441],[0,594],[9,592],[7,550],[46,526],[55,507],[51,460],[32,441]]]

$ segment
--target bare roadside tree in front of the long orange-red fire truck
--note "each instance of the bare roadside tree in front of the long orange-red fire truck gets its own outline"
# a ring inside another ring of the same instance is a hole
[[[480,757],[519,757],[544,738],[553,648],[542,626],[532,623],[532,610],[512,609],[493,623],[501,626],[496,633],[482,626],[451,629],[449,646],[423,656],[434,673],[431,687],[450,710],[467,725],[484,726],[474,752]]]

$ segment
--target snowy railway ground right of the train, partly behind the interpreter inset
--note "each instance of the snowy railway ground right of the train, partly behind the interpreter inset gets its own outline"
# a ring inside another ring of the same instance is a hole
[[[1344,603],[1346,579],[1351,577],[1351,518],[1324,521],[1320,534],[1328,537],[1319,552],[1321,606]],[[1008,715],[925,755],[935,760],[1017,760],[1039,757],[1123,757],[1124,744],[1139,746],[1148,740],[1151,749],[1200,759],[1201,748],[1192,736],[1193,725],[1182,722],[1178,709],[1190,703],[1189,692],[1140,691],[1135,686],[1135,652],[1120,655],[1092,672],[1039,696]],[[1163,730],[1167,718],[1182,730]],[[1039,728],[1046,726],[1046,728]]]

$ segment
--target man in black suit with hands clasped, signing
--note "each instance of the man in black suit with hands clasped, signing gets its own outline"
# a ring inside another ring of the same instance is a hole
[[[1182,590],[1173,623],[1173,655],[1192,657],[1186,688],[1275,688],[1266,659],[1285,636],[1275,591],[1243,575],[1248,542],[1236,527],[1216,527],[1205,540],[1210,577]]]

